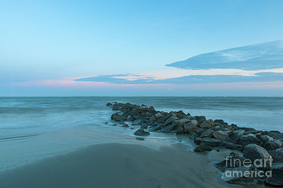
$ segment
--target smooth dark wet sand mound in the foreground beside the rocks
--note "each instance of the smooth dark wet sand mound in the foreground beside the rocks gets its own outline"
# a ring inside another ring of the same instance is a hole
[[[5,188],[243,187],[217,181],[208,163],[223,155],[208,157],[181,144],[96,144],[2,171],[0,182]]]

